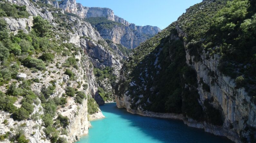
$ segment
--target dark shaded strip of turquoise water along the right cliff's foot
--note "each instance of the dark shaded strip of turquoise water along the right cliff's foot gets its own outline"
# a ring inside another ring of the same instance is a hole
[[[129,126],[139,129],[148,137],[157,140],[157,143],[232,143],[226,138],[214,136],[201,129],[188,127],[180,120],[166,120],[130,114],[126,109],[117,108],[115,103],[100,106],[100,109],[103,114],[104,112],[112,113],[125,119]]]

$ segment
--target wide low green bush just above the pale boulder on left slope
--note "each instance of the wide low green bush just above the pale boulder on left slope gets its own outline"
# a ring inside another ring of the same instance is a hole
[[[45,63],[42,60],[38,60],[28,56],[21,61],[22,64],[28,68],[36,68],[38,70],[45,70]]]

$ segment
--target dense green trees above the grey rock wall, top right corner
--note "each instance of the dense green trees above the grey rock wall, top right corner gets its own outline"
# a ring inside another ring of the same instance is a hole
[[[250,96],[256,93],[255,28],[255,1],[229,1],[213,17],[204,41],[213,43],[208,48],[214,53],[221,53],[220,71],[237,78],[237,87],[245,87]]]

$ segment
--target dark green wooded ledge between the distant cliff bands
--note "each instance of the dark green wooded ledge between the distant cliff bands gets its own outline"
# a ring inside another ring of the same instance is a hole
[[[85,21],[89,22],[98,31],[104,30],[104,29],[112,29],[116,25],[124,26],[119,22],[114,22],[112,20],[108,20],[105,17],[90,17],[90,18],[86,18]]]

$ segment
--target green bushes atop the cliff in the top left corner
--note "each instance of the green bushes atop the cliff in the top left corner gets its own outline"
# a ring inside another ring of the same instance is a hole
[[[27,18],[29,13],[26,11],[26,6],[18,6],[8,2],[0,3],[0,17]]]

